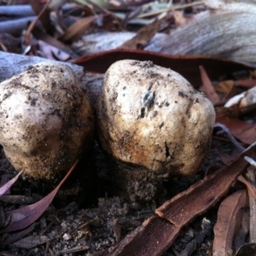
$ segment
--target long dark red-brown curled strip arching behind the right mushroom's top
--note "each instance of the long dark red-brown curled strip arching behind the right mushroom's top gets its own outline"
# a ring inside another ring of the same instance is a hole
[[[150,52],[141,49],[113,49],[93,55],[85,55],[73,64],[84,67],[84,71],[105,73],[115,61],[120,60],[153,61],[155,65],[169,67],[183,75],[191,84],[198,88],[201,85],[199,66],[207,69],[211,79],[218,79],[223,74],[233,73],[247,69],[248,67],[232,61],[222,61],[206,56],[173,56]]]

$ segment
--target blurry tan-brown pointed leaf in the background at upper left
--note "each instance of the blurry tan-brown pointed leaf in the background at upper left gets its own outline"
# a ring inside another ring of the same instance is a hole
[[[67,28],[67,31],[61,35],[59,40],[63,42],[77,41],[96,18],[95,16],[90,16],[79,19]]]

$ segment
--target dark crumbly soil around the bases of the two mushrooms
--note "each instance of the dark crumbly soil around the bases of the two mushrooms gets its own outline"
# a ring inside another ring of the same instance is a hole
[[[166,192],[163,195],[155,201],[140,204],[114,195],[109,183],[107,158],[95,143],[95,157],[85,161],[87,165],[93,160],[90,168],[93,166],[92,169],[97,173],[95,181],[86,182],[85,179],[84,186],[78,182],[76,175],[79,173],[80,176],[84,171],[84,164],[80,164],[42,217],[26,230],[0,236],[0,255],[103,255],[109,247],[142,224],[143,220],[154,215],[156,207],[204,177],[207,166],[221,164],[216,148],[222,148],[227,154],[231,146],[213,140],[211,154],[200,172],[189,177],[173,178],[165,184]],[[2,149],[1,184],[14,177],[15,173]],[[31,204],[47,195],[50,187],[47,182],[19,178],[9,194],[1,198],[0,207],[8,211]],[[212,255],[212,230],[217,210],[218,206],[213,207],[190,223],[163,256]],[[35,244],[21,240],[25,237],[30,242],[35,241]]]

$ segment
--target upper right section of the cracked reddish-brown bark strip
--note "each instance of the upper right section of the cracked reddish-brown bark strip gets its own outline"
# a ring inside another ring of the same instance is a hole
[[[220,168],[212,175],[193,184],[189,189],[174,196],[170,201],[166,201],[161,207],[156,209],[156,213],[161,218],[168,219],[177,226],[188,223],[195,216],[206,212],[225,195],[236,177],[247,167],[244,155],[254,154],[256,143],[239,154],[229,166]]]

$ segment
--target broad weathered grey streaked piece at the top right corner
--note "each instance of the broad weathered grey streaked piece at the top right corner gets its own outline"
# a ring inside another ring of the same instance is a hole
[[[256,66],[256,6],[227,3],[195,15],[154,45],[170,55],[209,55]],[[151,49],[148,46],[146,49]]]

